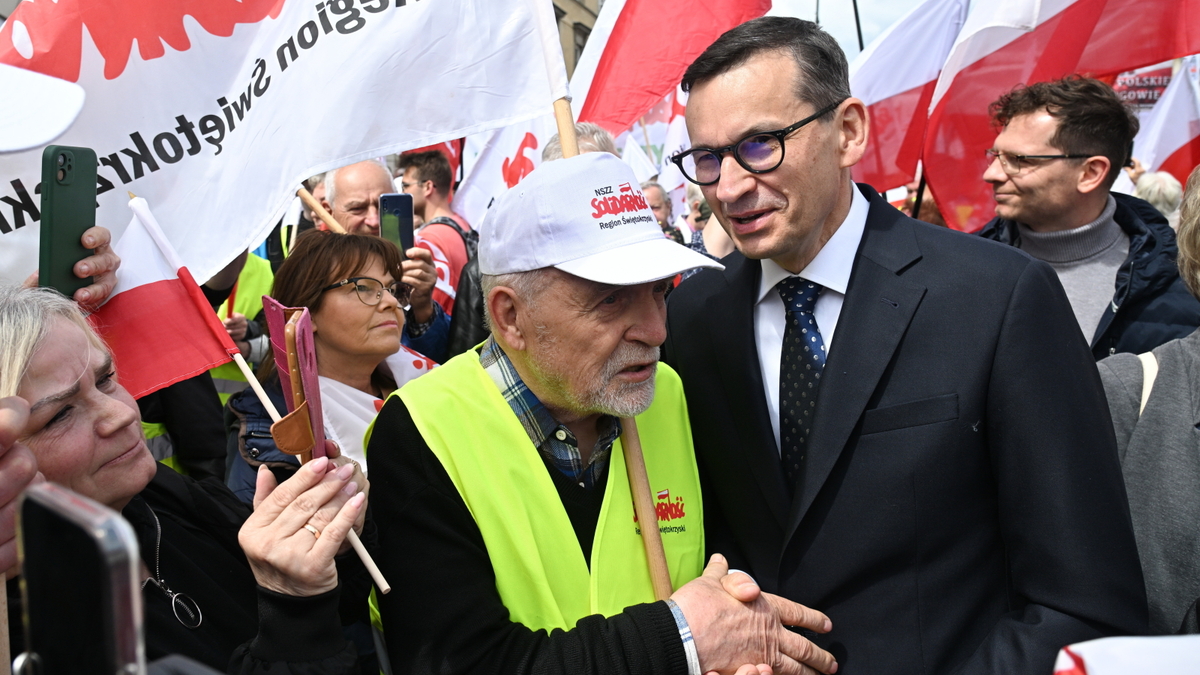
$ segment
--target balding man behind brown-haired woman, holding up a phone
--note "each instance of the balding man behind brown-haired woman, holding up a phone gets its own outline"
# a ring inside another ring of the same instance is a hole
[[[326,173],[320,202],[350,234],[379,237],[379,196],[395,191],[388,168],[367,160]],[[446,358],[450,317],[433,299],[433,253],[420,240],[403,253],[401,281],[413,287],[412,306],[404,312],[404,345],[440,363]]]

